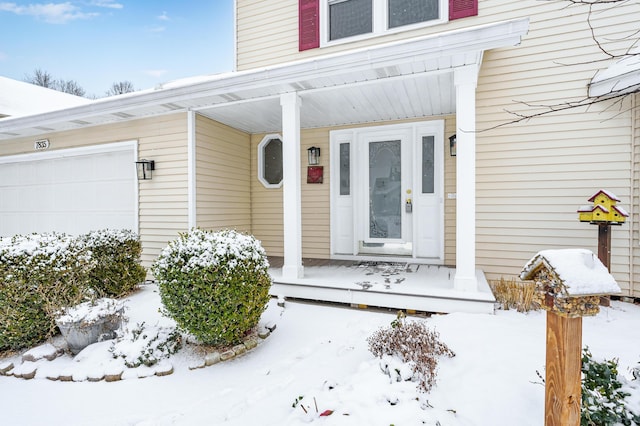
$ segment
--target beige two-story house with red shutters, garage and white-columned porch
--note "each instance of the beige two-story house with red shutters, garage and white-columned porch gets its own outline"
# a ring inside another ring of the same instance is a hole
[[[236,0],[234,72],[1,120],[0,235],[128,227],[148,264],[233,227],[283,257],[274,294],[490,312],[487,278],[595,250],[576,210],[602,188],[630,212],[611,269],[638,297],[640,95],[602,100],[640,72],[600,47],[625,53],[639,20],[636,2]],[[365,288],[303,258],[441,281]]]

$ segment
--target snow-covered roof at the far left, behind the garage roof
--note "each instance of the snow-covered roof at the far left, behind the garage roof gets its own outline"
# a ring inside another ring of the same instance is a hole
[[[0,118],[86,105],[90,99],[0,76]]]

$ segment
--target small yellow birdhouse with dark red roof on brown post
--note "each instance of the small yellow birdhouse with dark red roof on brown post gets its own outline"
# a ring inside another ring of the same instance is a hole
[[[593,204],[578,209],[580,222],[598,225],[598,258],[609,271],[611,270],[611,225],[622,225],[629,217],[629,213],[616,205],[618,201],[620,199],[615,194],[601,189],[589,198],[589,202]]]

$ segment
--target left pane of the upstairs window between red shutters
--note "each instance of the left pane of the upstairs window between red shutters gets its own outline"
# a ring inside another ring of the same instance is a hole
[[[372,0],[329,4],[329,38],[337,40],[373,31]]]

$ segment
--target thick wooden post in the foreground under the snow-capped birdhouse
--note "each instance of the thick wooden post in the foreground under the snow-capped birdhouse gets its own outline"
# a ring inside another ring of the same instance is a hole
[[[579,426],[582,317],[547,311],[545,426]]]

